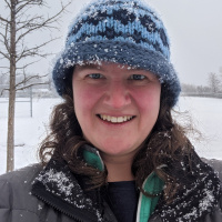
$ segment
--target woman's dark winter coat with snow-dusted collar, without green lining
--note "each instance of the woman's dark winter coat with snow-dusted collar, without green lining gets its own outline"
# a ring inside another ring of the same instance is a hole
[[[209,163],[221,176],[222,161]],[[204,168],[196,172],[202,175],[181,189],[172,204],[160,199],[149,222],[222,221],[220,182],[209,165],[201,160],[198,164]],[[27,167],[0,176],[0,222],[115,222],[101,192],[85,195],[69,168],[54,160],[44,169]]]

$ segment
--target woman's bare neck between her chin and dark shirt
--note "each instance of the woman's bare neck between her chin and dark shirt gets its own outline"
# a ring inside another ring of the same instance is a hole
[[[101,158],[108,169],[108,182],[132,181],[133,157],[110,157],[101,153]]]

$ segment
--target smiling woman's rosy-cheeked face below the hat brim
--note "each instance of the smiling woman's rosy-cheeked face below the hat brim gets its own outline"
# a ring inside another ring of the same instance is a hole
[[[161,84],[149,71],[117,63],[75,65],[74,111],[84,138],[102,153],[135,153],[155,124]]]

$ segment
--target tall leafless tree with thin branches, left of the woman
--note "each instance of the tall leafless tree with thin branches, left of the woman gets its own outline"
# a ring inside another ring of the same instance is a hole
[[[26,70],[41,58],[50,53],[44,52],[44,47],[57,38],[44,37],[43,42],[28,42],[28,38],[37,31],[47,33],[58,29],[58,20],[71,3],[61,3],[60,10],[53,16],[43,14],[43,8],[48,7],[46,0],[3,0],[0,14],[0,61],[8,61],[8,65],[0,67],[9,75],[9,110],[8,110],[8,140],[7,140],[7,172],[14,168],[14,102],[16,92],[31,85],[33,79],[41,75],[27,75]],[[2,16],[8,13],[7,16]],[[27,62],[28,61],[28,62]],[[16,81],[18,74],[23,73],[23,80]],[[36,82],[34,84],[38,84]],[[42,82],[39,82],[42,84]]]

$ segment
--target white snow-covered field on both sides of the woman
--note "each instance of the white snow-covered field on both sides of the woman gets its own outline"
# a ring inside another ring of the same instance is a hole
[[[19,99],[19,101],[28,99]],[[6,172],[8,103],[0,99],[0,174]],[[60,99],[34,99],[33,117],[30,103],[16,103],[16,169],[38,162],[37,150],[46,137],[49,115]],[[188,111],[204,140],[193,141],[201,157],[222,160],[222,100],[210,98],[180,98],[176,110]],[[192,137],[192,135],[191,135]]]

